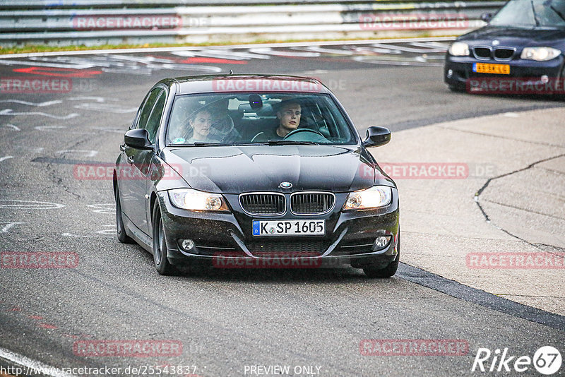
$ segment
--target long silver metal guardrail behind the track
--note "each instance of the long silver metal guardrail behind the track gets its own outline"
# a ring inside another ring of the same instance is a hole
[[[253,42],[457,35],[504,1],[0,0],[0,44]],[[258,6],[258,4],[262,4]]]

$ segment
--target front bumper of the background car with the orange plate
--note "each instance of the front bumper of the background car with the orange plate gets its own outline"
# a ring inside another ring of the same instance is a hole
[[[476,73],[472,71],[473,64],[508,64],[509,75]],[[479,60],[472,56],[451,56],[446,54],[444,65],[444,82],[455,88],[469,88],[470,80],[474,78],[501,78],[501,79],[527,79],[540,80],[542,76],[548,78],[561,78],[564,66],[564,57],[559,56],[550,61],[533,61],[524,59],[513,59],[511,61]],[[451,70],[451,76],[448,74]]]

